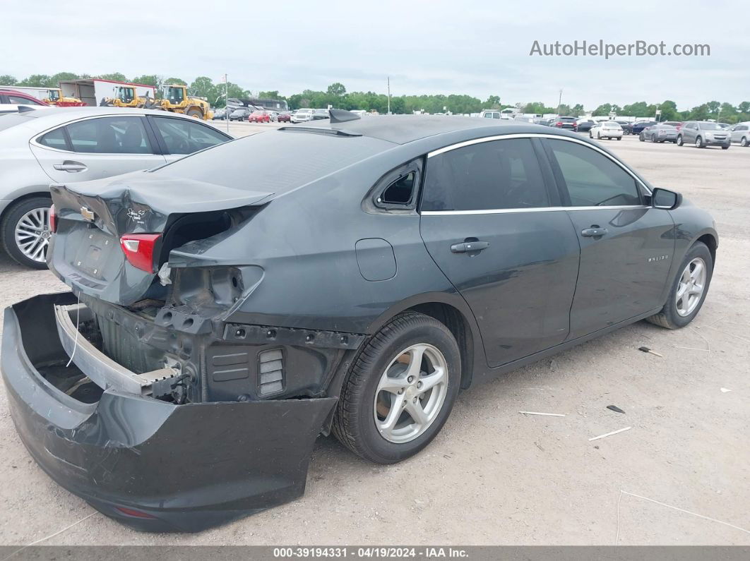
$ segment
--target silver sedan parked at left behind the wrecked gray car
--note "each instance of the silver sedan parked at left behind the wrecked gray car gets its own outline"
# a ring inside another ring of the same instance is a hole
[[[150,109],[43,108],[0,116],[0,232],[20,264],[46,267],[49,184],[171,162],[231,139],[195,118]]]

